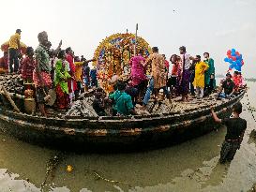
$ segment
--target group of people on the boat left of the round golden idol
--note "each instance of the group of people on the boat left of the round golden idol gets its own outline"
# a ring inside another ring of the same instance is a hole
[[[46,32],[38,34],[38,48],[34,51],[27,47],[23,57],[20,52],[21,32],[17,29],[10,37],[8,52],[4,52],[0,59],[1,72],[21,74],[24,85],[35,86],[42,115],[47,116],[45,103],[51,98],[50,89],[56,93],[57,108],[67,110],[81,92],[87,92],[90,86],[98,86],[97,70],[88,66],[94,60],[86,60],[83,55],[81,58],[75,56],[70,47],[62,50],[62,41],[55,50],[51,49],[52,43]]]

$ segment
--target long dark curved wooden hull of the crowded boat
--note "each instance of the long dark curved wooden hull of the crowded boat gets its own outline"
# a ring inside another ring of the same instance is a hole
[[[220,117],[245,95],[216,101]],[[71,150],[148,149],[201,136],[215,128],[210,105],[185,111],[126,117],[33,116],[0,106],[0,130],[20,140]]]

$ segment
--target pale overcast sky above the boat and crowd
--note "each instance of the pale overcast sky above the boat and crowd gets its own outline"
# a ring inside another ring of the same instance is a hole
[[[114,33],[133,33],[170,57],[182,45],[191,55],[210,52],[217,73],[225,73],[228,49],[243,54],[247,77],[256,77],[256,0],[0,0],[0,43],[22,29],[22,41],[36,48],[38,32],[56,47],[71,46],[93,57],[99,42]],[[174,10],[174,11],[173,11]]]

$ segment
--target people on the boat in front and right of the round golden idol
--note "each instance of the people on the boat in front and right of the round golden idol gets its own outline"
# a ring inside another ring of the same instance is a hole
[[[189,102],[190,96],[198,98],[200,102],[203,96],[209,96],[213,92],[217,93],[217,98],[235,96],[240,88],[245,86],[241,73],[235,71],[233,77],[227,73],[226,80],[221,81],[219,90],[216,90],[214,60],[208,52],[203,53],[202,61],[200,55],[192,57],[186,47],[182,46],[179,49],[180,55],[171,56],[173,68],[169,70],[170,65],[165,55],[159,54],[157,47],[153,47],[152,51],[146,59],[143,57],[143,51],[131,58],[130,78],[127,81],[115,79],[114,92],[107,99],[113,103],[113,115],[136,114],[136,104],[141,104],[141,110],[146,110],[151,98],[155,101],[162,99],[159,96],[160,91],[170,103],[172,98],[177,96],[181,96],[178,101]],[[146,75],[147,66],[151,66],[150,75]],[[119,86],[122,88],[118,88]],[[100,93],[97,95],[99,98]],[[100,111],[104,111],[104,99],[99,103],[97,106],[101,106]]]

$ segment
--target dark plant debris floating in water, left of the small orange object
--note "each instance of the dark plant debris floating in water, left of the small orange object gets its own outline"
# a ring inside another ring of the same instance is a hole
[[[53,157],[49,159],[46,167],[46,175],[41,186],[46,185],[50,175],[52,176],[51,181],[53,181],[53,178],[55,176],[55,170],[57,169],[57,166],[60,164],[60,162],[63,159],[64,159],[64,154],[61,152],[59,152],[57,155],[53,155]]]

